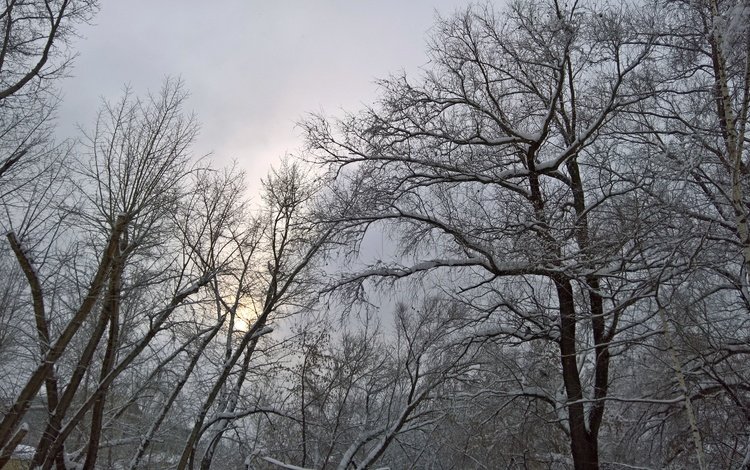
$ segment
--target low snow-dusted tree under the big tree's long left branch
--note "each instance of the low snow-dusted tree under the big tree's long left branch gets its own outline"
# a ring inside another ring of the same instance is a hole
[[[399,304],[387,328],[372,313],[342,333],[331,331],[335,321],[299,326],[301,357],[286,380],[292,398],[261,428],[256,460],[346,469],[429,459],[409,451],[410,436],[428,434],[444,419],[444,387],[474,365],[476,348],[455,335],[460,306],[437,298]]]

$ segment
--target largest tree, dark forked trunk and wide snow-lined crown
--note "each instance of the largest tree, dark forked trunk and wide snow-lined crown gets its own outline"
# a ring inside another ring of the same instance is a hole
[[[580,469],[599,466],[612,344],[672,272],[671,248],[643,244],[663,222],[652,181],[614,132],[651,96],[653,21],[578,2],[469,10],[438,24],[423,81],[386,80],[377,108],[306,123],[349,240],[401,233],[404,256],[338,285],[431,276],[493,335],[554,343],[565,393],[551,399]]]

